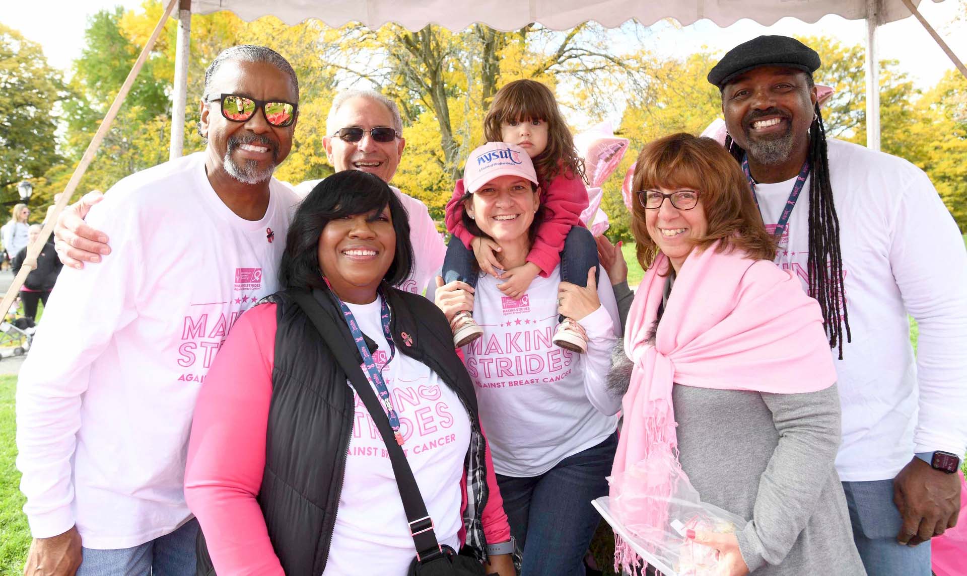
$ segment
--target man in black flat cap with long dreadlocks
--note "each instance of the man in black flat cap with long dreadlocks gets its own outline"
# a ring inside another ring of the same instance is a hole
[[[708,79],[777,264],[823,312],[842,403],[836,469],[866,571],[930,576],[929,540],[956,524],[967,447],[967,253],[922,170],[826,138],[819,66],[805,44],[761,36]]]

